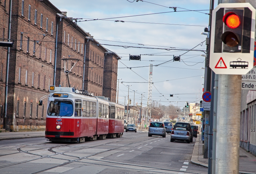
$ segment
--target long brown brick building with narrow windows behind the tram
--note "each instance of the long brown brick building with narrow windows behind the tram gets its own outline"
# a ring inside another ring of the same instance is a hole
[[[4,39],[8,35],[9,17],[9,1],[5,2],[5,5],[0,4]],[[111,98],[111,95],[116,95],[118,56],[113,56],[115,59],[112,61],[105,61],[108,59],[105,55],[111,51],[102,47],[72,18],[67,17],[66,12],[61,12],[48,0],[12,1],[11,40],[14,40],[14,46],[10,48],[6,118],[7,49],[0,48],[0,127],[11,131],[44,130],[47,98],[43,100],[45,106],[39,106],[38,102],[42,96],[49,94],[50,85],[70,85],[78,90],[88,90],[95,96],[106,94]],[[105,66],[113,69],[112,84],[104,80],[110,75],[104,74]],[[64,70],[70,71],[69,85]],[[111,93],[104,93],[103,88],[111,88]]]

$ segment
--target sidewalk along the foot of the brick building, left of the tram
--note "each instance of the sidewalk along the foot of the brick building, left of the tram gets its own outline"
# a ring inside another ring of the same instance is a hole
[[[37,138],[44,137],[45,131],[30,131],[30,132],[1,132],[0,140],[13,140],[21,138]]]

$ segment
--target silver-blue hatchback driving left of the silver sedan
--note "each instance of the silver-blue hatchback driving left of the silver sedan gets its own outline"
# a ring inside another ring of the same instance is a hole
[[[165,137],[166,130],[163,122],[151,122],[148,129],[148,136],[158,135]]]

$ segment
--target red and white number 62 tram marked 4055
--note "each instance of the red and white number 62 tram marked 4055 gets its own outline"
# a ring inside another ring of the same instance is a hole
[[[123,135],[123,105],[74,88],[50,89],[45,131],[49,141],[84,142]]]

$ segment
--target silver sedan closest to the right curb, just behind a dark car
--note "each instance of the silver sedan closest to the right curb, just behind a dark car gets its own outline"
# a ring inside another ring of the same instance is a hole
[[[185,127],[174,127],[171,131],[171,142],[174,140],[187,141],[187,143],[190,143],[191,134]]]

